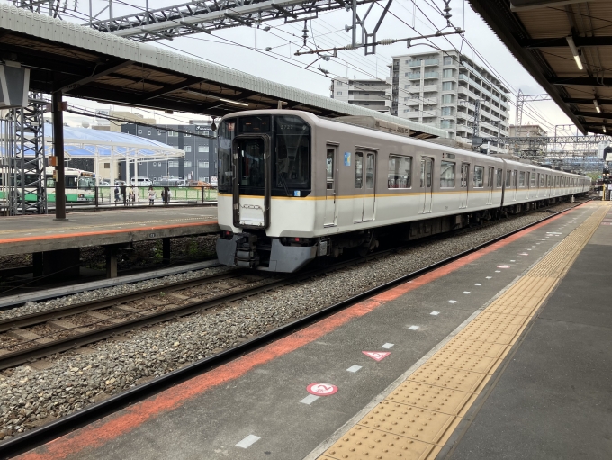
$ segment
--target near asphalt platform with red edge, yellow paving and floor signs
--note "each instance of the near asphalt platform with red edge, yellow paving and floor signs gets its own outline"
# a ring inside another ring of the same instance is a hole
[[[19,458],[609,459],[610,260],[585,203]]]

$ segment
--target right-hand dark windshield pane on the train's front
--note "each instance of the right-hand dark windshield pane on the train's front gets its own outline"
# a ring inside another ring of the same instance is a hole
[[[274,185],[289,189],[310,188],[311,127],[294,115],[275,116]]]

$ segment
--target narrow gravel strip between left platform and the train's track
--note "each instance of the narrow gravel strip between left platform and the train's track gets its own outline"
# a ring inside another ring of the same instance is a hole
[[[75,293],[65,297],[58,297],[57,299],[51,299],[45,302],[27,302],[21,307],[0,311],[0,320],[16,318],[18,316],[28,315],[38,311],[52,310],[54,308],[65,307],[75,303],[94,301],[96,299],[102,299],[103,297],[112,297],[113,295],[119,295],[121,293],[133,293],[134,291],[139,291],[140,289],[147,289],[149,287],[155,287],[161,284],[178,283],[180,281],[185,281],[200,276],[216,275],[226,271],[228,271],[228,268],[226,267],[213,266],[211,268],[203,268],[202,270],[167,275],[161,278],[139,281],[137,283],[117,284],[116,286],[94,289],[92,291],[84,291],[83,293]]]

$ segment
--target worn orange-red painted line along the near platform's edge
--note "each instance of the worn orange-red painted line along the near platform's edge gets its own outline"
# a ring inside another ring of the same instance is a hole
[[[395,300],[405,293],[409,293],[419,287],[442,278],[455,270],[471,264],[475,260],[490,254],[497,249],[503,248],[510,243],[524,237],[528,233],[543,227],[552,221],[556,221],[560,216],[554,216],[548,221],[536,224],[534,227],[522,230],[506,239],[482,248],[472,254],[462,257],[446,266],[441,266],[425,275],[421,275],[410,283],[401,284],[384,293],[379,293],[371,299],[359,302],[343,311],[338,311],[334,315],[295,332],[289,337],[281,338],[276,342],[263,347],[257,351],[242,356],[227,365],[194,377],[193,379],[178,384],[172,389],[160,392],[154,397],[141,401],[133,406],[123,409],[118,413],[112,414],[104,419],[100,419],[91,425],[80,428],[74,433],[64,437],[59,437],[45,446],[20,455],[21,460],[59,460],[67,458],[69,455],[76,455],[78,458],[86,458],[85,449],[103,446],[105,443],[120,437],[143,425],[149,419],[153,419],[161,414],[182,406],[185,401],[199,396],[203,392],[223,383],[235,380],[247,374],[258,365],[264,365],[277,357],[287,355],[294,350],[318,340],[322,336],[329,334],[339,327],[347,324],[350,320],[360,318],[367,313],[374,311],[386,302]]]

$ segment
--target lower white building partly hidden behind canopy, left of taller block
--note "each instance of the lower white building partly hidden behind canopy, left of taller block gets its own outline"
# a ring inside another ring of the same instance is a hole
[[[388,95],[391,85],[383,80],[334,78],[329,89],[332,99],[381,113],[391,113],[391,100]]]

